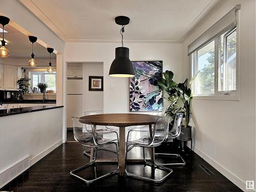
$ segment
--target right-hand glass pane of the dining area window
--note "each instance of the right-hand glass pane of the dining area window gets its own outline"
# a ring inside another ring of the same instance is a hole
[[[237,31],[221,35],[219,91],[236,90]]]

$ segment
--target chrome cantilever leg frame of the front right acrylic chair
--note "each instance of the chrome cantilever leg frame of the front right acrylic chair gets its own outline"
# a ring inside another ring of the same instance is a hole
[[[132,145],[132,144],[131,144]],[[173,173],[173,170],[170,169],[170,168],[167,168],[167,167],[164,167],[164,166],[161,166],[161,165],[158,165],[158,164],[155,164],[155,161],[154,163],[150,163],[148,161],[146,161],[145,159],[145,149],[143,147],[143,160],[144,160],[144,164],[145,165],[148,165],[148,166],[152,166],[155,168],[158,168],[158,169],[161,169],[161,170],[164,170],[166,172],[168,172],[164,177],[162,177],[161,179],[151,179],[151,178],[147,178],[147,177],[143,177],[143,176],[140,176],[140,175],[136,175],[136,174],[132,174],[130,172],[127,172],[127,169],[126,169],[126,163],[127,163],[127,149],[129,148],[129,144],[126,145],[126,153],[125,153],[125,173],[127,176],[131,176],[131,177],[134,177],[134,178],[137,178],[137,179],[142,179],[142,180],[145,180],[145,181],[153,181],[155,183],[161,183],[162,181],[164,181],[170,174]]]

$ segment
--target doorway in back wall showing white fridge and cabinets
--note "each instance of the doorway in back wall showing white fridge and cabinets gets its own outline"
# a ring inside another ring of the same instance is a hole
[[[84,116],[86,111],[103,111],[104,91],[89,89],[90,76],[103,77],[103,62],[67,63],[67,142],[77,142],[71,117]]]

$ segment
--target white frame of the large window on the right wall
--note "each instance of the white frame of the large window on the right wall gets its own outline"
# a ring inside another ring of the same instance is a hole
[[[193,99],[210,99],[210,100],[240,100],[240,27],[239,27],[239,19],[236,26],[237,30],[237,45],[236,45],[236,90],[229,91],[229,92],[219,92],[219,61],[220,61],[220,36],[215,37],[214,39],[211,39],[215,41],[215,93],[209,94],[209,95],[193,95]],[[234,27],[229,29],[226,34],[229,34]],[[228,33],[229,32],[229,33]],[[200,48],[201,49],[201,48]],[[197,51],[194,51],[192,54],[190,54],[188,57],[189,66],[190,66],[190,78],[193,77],[197,73],[197,65],[194,65],[195,62],[197,62]],[[216,54],[217,53],[217,54]],[[226,53],[225,53],[226,54]],[[197,83],[197,79],[193,84]],[[192,86],[192,91],[195,93],[195,86]]]

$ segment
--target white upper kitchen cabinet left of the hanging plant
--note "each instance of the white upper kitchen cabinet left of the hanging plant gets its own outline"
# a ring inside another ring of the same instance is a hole
[[[17,67],[4,66],[5,90],[17,90]]]

